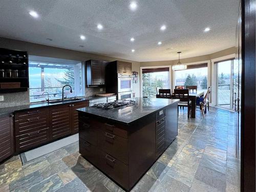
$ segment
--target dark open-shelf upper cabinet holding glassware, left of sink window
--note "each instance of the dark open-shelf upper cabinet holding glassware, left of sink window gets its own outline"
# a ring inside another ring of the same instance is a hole
[[[0,48],[0,93],[27,91],[28,53]]]

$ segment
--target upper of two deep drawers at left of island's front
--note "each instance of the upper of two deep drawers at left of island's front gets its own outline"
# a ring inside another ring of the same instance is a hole
[[[97,126],[79,121],[79,138],[97,145]]]

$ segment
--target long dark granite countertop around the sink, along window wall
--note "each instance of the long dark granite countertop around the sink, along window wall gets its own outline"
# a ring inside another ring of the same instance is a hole
[[[113,97],[116,95],[108,96]],[[0,116],[10,115],[14,112],[18,111],[26,111],[30,109],[39,109],[39,108],[45,108],[48,106],[55,106],[55,105],[61,105],[61,104],[68,104],[68,103],[75,103],[75,102],[81,102],[81,101],[87,101],[87,100],[93,100],[93,99],[99,99],[99,98],[106,98],[101,96],[90,96],[90,97],[78,97],[80,100],[73,100],[69,102],[62,102],[61,100],[56,100],[56,103],[48,103],[48,102],[37,102],[37,103],[31,103],[27,105],[19,105],[19,106],[11,106],[9,108],[0,108]],[[68,100],[68,99],[66,99]]]

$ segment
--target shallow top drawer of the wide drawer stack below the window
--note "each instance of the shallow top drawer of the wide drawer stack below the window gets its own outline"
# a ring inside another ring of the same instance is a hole
[[[24,112],[15,112],[14,119],[16,121],[16,120],[38,117],[38,116],[42,116],[42,115],[48,115],[48,108],[27,110]]]

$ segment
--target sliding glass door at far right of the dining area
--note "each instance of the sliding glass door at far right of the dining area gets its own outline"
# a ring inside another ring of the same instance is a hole
[[[216,63],[217,79],[217,106],[233,110],[234,93],[236,93],[236,79],[234,75],[234,60],[226,60]]]

